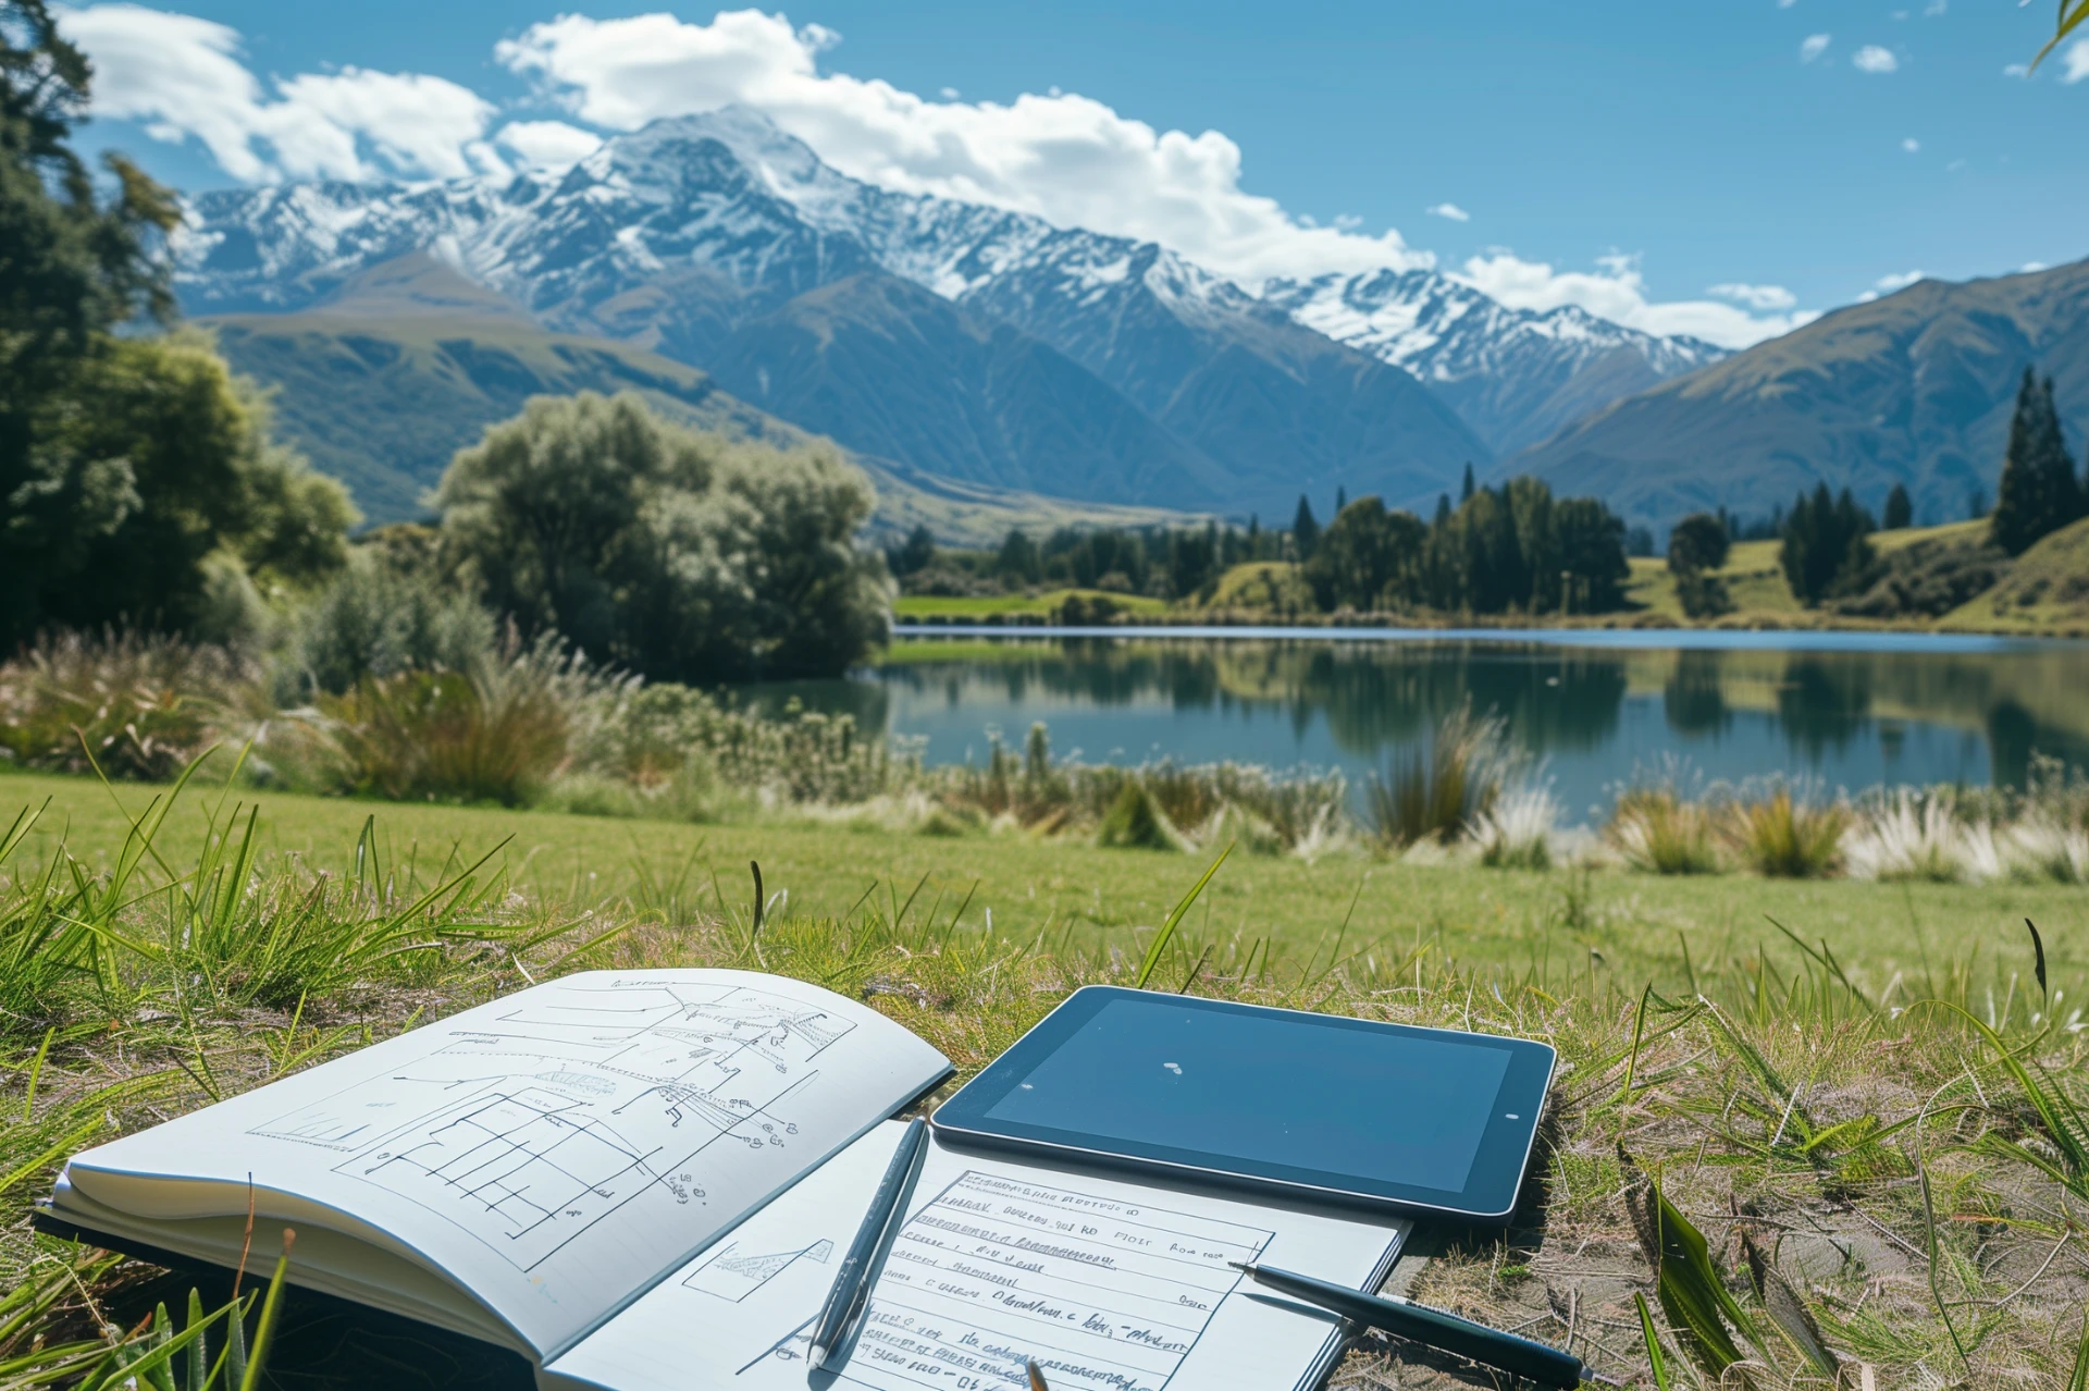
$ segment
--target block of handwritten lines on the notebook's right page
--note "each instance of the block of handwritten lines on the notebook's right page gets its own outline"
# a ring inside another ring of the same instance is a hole
[[[900,1228],[846,1378],[1159,1391],[1272,1232],[967,1170]]]

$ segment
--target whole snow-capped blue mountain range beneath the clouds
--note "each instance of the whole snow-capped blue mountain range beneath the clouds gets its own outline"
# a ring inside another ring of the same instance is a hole
[[[194,313],[309,309],[424,251],[547,328],[704,368],[911,468],[1264,516],[1337,487],[1433,499],[1496,441],[1709,351],[1429,272],[1255,297],[1151,242],[852,180],[742,109],[656,121],[556,175],[230,190],[192,213]],[[871,288],[831,290],[854,280]]]

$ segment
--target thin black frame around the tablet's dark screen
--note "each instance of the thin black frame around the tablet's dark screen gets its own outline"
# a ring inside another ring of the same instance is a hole
[[[1299,1028],[1362,1030],[1375,1034],[1429,1038],[1458,1046],[1502,1048],[1508,1053],[1508,1067],[1489,1111],[1487,1130],[1473,1155],[1473,1170],[1464,1188],[1423,1188],[1375,1180],[1358,1174],[1314,1170],[1310,1165],[1281,1165],[1235,1155],[1201,1155],[1166,1145],[1143,1145],[1116,1136],[1059,1130],[1051,1126],[1030,1126],[1005,1122],[988,1115],[1024,1078],[1036,1071],[1047,1057],[1078,1034],[1095,1015],[1116,1000],[1149,1000],[1174,1009],[1205,1009],[1216,1013],[1281,1015],[1297,1021]],[[1164,1170],[1184,1178],[1220,1182],[1228,1186],[1251,1186],[1308,1197],[1316,1201],[1360,1203],[1368,1207],[1389,1207],[1398,1211],[1452,1213],[1469,1222],[1506,1222],[1517,1207],[1523,1178],[1529,1170],[1531,1149],[1538,1140],[1538,1119],[1544,1113],[1546,1092],[1552,1086],[1552,1071],[1558,1053],[1544,1042],[1529,1038],[1506,1038],[1500,1034],[1469,1034],[1462,1030],[1431,1030],[1412,1023],[1381,1023],[1375,1019],[1352,1019],[1347,1015],[1320,1015],[1304,1009],[1274,1009],[1268,1005],[1237,1005],[1233,1000],[1207,1000],[1203,996],[1155,994],[1151,990],[1128,990],[1124,986],[1082,986],[1070,994],[1055,1011],[1044,1015],[1028,1034],[999,1059],[986,1065],[980,1076],[961,1086],[930,1117],[938,1138],[957,1145],[988,1145],[996,1149],[1044,1151],[1086,1163],[1109,1163],[1111,1168]],[[1508,1119],[1517,1115],[1517,1119]]]

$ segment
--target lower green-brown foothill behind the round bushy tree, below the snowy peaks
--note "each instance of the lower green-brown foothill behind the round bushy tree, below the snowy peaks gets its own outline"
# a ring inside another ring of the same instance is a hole
[[[911,286],[909,286],[911,290]],[[345,480],[372,522],[422,516],[451,453],[533,395],[635,391],[673,420],[781,449],[815,443],[714,378],[646,349],[549,332],[514,301],[441,261],[409,253],[334,286],[297,313],[205,317],[226,359],[274,388],[276,424],[324,472]],[[1153,508],[1063,503],[923,474],[846,451],[877,485],[873,531],[930,524],[944,541],[990,543],[1015,522],[1149,524]]]

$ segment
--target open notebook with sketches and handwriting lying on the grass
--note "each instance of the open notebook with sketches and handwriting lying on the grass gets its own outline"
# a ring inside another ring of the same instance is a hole
[[[948,1074],[838,994],[746,971],[524,990],[77,1155],[58,1224],[514,1347],[577,1391],[1306,1387],[1331,1316],[1266,1259],[1375,1289],[1406,1224],[932,1149],[836,1376],[813,1316],[902,1126]]]

